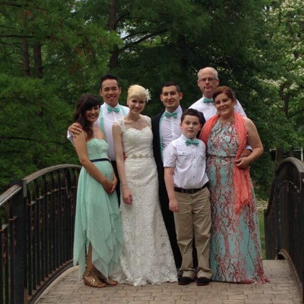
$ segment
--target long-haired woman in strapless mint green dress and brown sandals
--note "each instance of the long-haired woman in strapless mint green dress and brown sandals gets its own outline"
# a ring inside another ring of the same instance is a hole
[[[109,279],[119,264],[123,237],[115,187],[117,178],[108,160],[108,144],[102,131],[93,127],[99,117],[100,102],[94,95],[82,96],[74,122],[83,132],[73,139],[81,169],[78,181],[74,232],[74,265],[91,287],[116,285]],[[87,249],[87,261],[86,261]]]

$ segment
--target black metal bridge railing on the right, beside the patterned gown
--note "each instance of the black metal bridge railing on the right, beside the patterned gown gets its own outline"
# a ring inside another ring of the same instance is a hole
[[[264,224],[266,258],[290,262],[304,302],[304,163],[298,159],[284,159],[276,169]]]

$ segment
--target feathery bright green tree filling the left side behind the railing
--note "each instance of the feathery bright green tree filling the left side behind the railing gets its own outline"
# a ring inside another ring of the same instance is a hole
[[[0,7],[0,187],[37,169],[75,162],[65,130],[75,100],[107,68],[113,36],[77,13],[78,2]]]

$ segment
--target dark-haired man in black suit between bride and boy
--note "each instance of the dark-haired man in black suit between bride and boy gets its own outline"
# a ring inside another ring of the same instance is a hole
[[[172,140],[178,138],[181,134],[179,124],[184,108],[179,103],[182,96],[183,94],[175,82],[166,82],[160,96],[165,109],[153,117],[151,121],[153,151],[159,177],[159,198],[177,268],[181,265],[181,255],[176,241],[173,212],[169,210],[169,198],[164,180],[163,150]],[[203,118],[204,123],[205,119]]]

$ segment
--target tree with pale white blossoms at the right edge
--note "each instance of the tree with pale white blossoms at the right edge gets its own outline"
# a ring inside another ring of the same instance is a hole
[[[256,79],[269,91],[264,102],[279,131],[272,147],[276,147],[276,161],[280,162],[284,151],[304,143],[304,4],[276,1],[264,13],[264,47],[259,54],[265,69]]]

